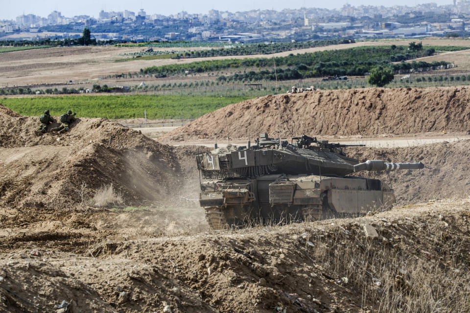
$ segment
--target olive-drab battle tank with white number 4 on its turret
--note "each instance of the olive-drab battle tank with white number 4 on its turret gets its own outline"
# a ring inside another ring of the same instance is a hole
[[[251,146],[217,148],[196,156],[212,229],[357,217],[390,210],[390,185],[361,177],[367,171],[415,170],[423,163],[387,163],[347,156],[351,145],[303,135],[290,142],[262,133]],[[364,146],[364,145],[357,145]]]

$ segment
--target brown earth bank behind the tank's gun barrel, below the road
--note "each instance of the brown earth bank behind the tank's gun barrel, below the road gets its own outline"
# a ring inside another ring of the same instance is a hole
[[[391,182],[398,205],[470,196],[470,140],[404,148],[349,147],[345,152],[360,161],[423,162],[422,170],[394,171],[390,178],[385,173],[361,173]]]

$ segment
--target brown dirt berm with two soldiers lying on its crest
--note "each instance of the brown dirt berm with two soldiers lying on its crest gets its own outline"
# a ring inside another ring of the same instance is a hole
[[[188,175],[196,148],[173,148],[103,118],[36,136],[37,117],[0,108],[0,205],[63,209],[89,204],[111,184],[124,205],[164,203],[197,179]]]

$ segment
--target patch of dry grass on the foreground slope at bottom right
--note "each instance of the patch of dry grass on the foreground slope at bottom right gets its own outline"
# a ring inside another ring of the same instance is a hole
[[[363,309],[376,303],[381,313],[470,312],[468,236],[442,223],[404,223],[376,227],[375,240],[347,225],[327,236],[314,230],[312,259],[333,277],[347,277]]]

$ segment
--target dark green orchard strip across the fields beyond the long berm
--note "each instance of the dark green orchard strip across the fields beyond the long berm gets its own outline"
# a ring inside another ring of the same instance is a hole
[[[330,75],[364,75],[372,68],[377,66],[389,66],[393,62],[430,56],[433,55],[435,51],[455,51],[456,49],[464,50],[468,49],[468,47],[430,46],[423,50],[422,46],[420,46],[419,48],[415,48],[415,50],[409,50],[409,48],[407,49],[406,46],[366,46],[332,51],[317,51],[314,53],[304,53],[297,55],[291,53],[286,57],[277,57],[275,58],[275,61],[276,65],[279,66],[279,80],[305,79]],[[412,66],[417,68],[448,64],[445,61],[435,63],[436,64],[420,62],[412,64]],[[141,73],[153,74],[155,77],[166,77],[187,74],[190,72],[206,73],[228,68],[249,67],[256,67],[258,69],[265,67],[269,69],[258,71],[253,70],[249,71],[248,73],[235,73],[229,77],[220,76],[218,79],[228,79],[233,81],[274,80],[272,60],[267,58],[211,60],[193,62],[189,64],[172,64],[160,67],[154,66],[141,69]],[[394,65],[394,67],[400,67],[400,65]],[[403,67],[410,66],[403,65]],[[400,68],[394,68],[394,70],[398,69]]]

